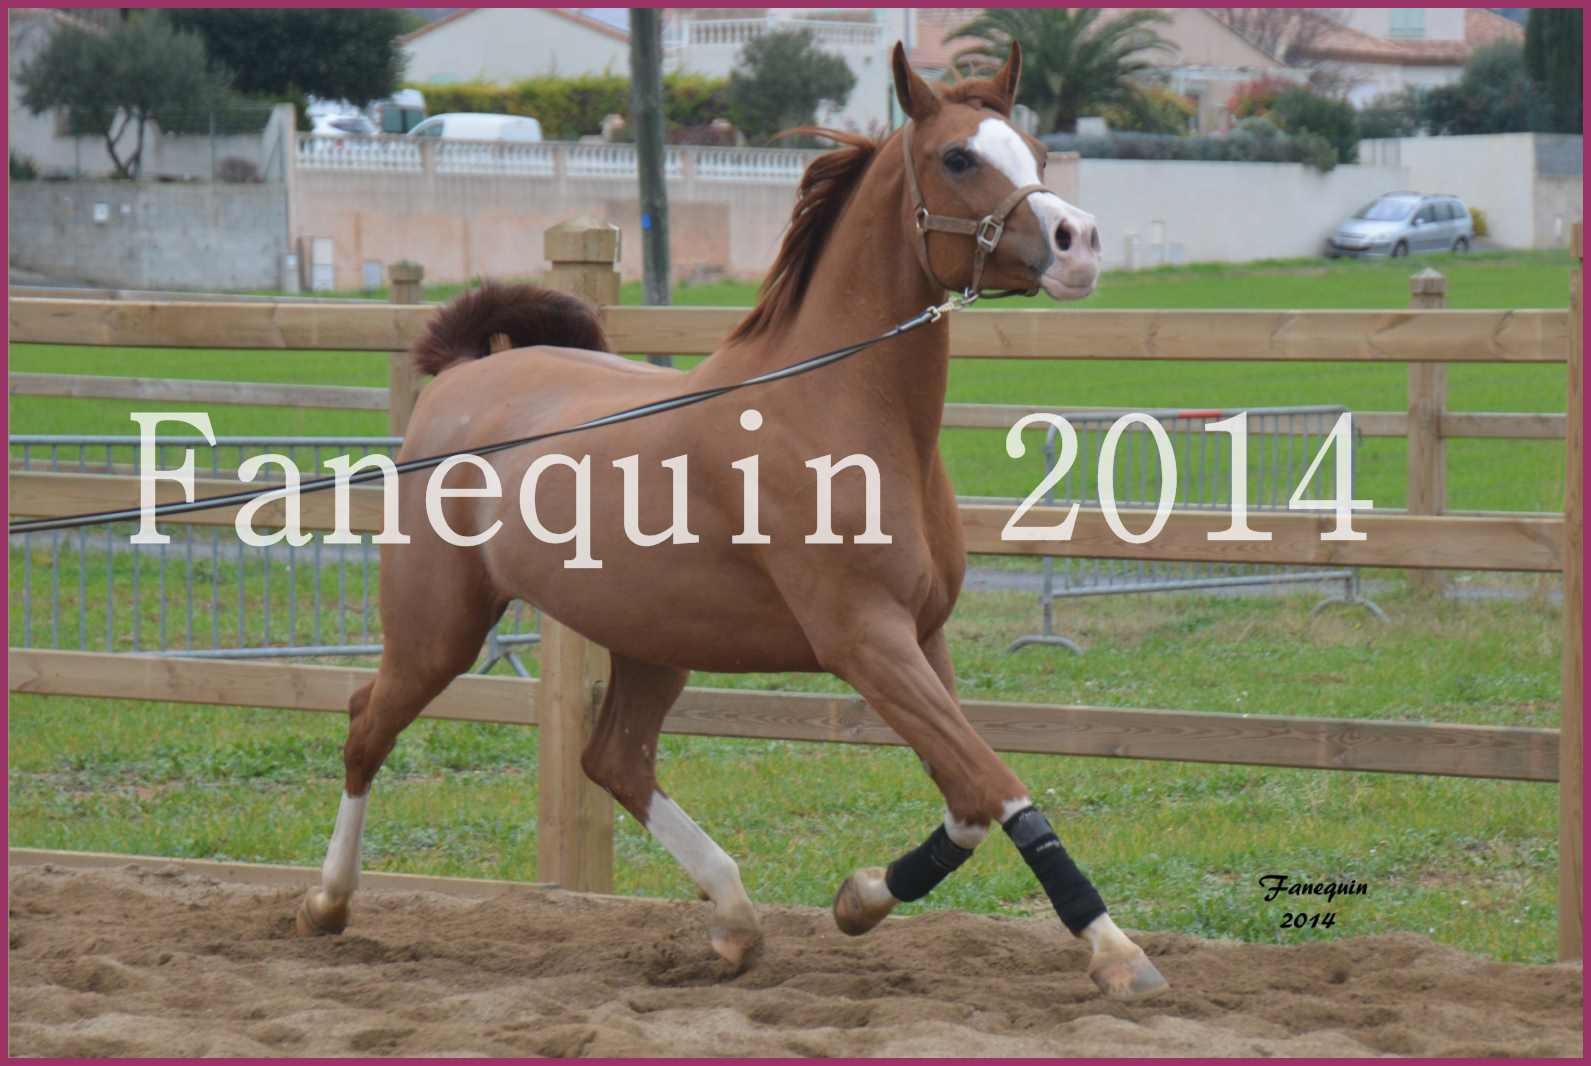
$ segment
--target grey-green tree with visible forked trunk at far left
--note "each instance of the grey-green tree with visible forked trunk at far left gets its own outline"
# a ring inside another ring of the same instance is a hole
[[[161,13],[135,14],[108,29],[62,22],[18,72],[22,105],[33,115],[60,108],[73,130],[105,138],[116,173],[134,180],[153,121],[185,127],[226,94],[228,75],[212,68],[204,41]],[[132,130],[132,146],[121,140]],[[126,154],[123,154],[126,153]]]

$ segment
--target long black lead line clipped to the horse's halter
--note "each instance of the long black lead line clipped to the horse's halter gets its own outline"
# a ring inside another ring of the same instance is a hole
[[[971,304],[971,299],[964,299],[958,305]],[[858,352],[864,352],[875,344],[891,340],[901,334],[912,333],[913,329],[924,326],[931,321],[937,321],[942,307],[929,307],[920,312],[913,318],[907,318],[897,326],[886,329],[885,333],[872,337],[869,340],[859,340],[850,344],[843,348],[835,348],[832,352],[824,352],[823,355],[813,355],[802,360],[800,363],[791,363],[789,366],[781,366],[776,371],[767,371],[757,374],[756,377],[748,377],[743,382],[735,382],[733,385],[718,385],[714,388],[702,388],[694,393],[683,393],[679,396],[670,396],[668,399],[655,399],[649,404],[641,404],[638,407],[627,407],[625,410],[616,410],[609,415],[601,415],[598,418],[589,418],[579,425],[565,426],[563,430],[550,430],[547,433],[536,433],[528,438],[515,438],[512,441],[498,441],[496,444],[487,444],[477,449],[461,449],[458,452],[447,452],[444,455],[428,455],[425,458],[412,458],[403,463],[396,463],[396,471],[399,474],[412,474],[414,471],[430,469],[433,466],[441,466],[450,458],[458,458],[460,455],[495,455],[496,452],[508,452],[509,449],[523,447],[527,444],[539,444],[541,441],[549,441],[552,438],[568,436],[571,433],[581,433],[582,430],[597,430],[601,426],[619,425],[620,422],[635,422],[636,418],[646,418],[651,415],[660,415],[667,410],[678,410],[679,407],[690,407],[708,399],[716,399],[727,393],[740,391],[741,388],[751,388],[753,385],[767,385],[770,382],[781,382],[786,377],[797,377],[800,374],[808,374],[824,366],[832,366],[840,360],[848,360]],[[347,479],[339,477],[317,477],[299,485],[299,493],[325,492],[326,488],[334,488],[339,480],[345,480],[348,485],[361,485],[368,480],[375,480],[377,477],[385,477],[383,469],[368,469],[358,474],[350,474]],[[231,492],[220,496],[204,496],[202,500],[188,500],[175,503],[161,503],[153,508],[154,517],[165,517],[172,514],[191,514],[194,511],[212,511],[215,508],[231,508],[237,504],[248,503],[272,492],[282,492],[282,485],[266,485],[261,488],[248,488],[243,492]],[[95,511],[92,514],[73,514],[59,519],[29,519],[25,522],[13,522],[6,527],[10,536],[18,533],[48,533],[49,530],[75,530],[84,525],[110,525],[113,522],[132,522],[143,517],[143,508],[121,508],[118,511]]]

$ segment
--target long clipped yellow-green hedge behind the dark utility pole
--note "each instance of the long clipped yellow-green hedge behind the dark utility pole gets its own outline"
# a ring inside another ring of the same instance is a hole
[[[630,113],[630,80],[619,75],[527,78],[512,84],[452,81],[410,84],[425,94],[428,115],[485,111],[528,115],[547,140],[578,140],[601,132],[608,115]],[[729,113],[729,81],[705,75],[663,76],[663,116],[670,126],[706,126]]]

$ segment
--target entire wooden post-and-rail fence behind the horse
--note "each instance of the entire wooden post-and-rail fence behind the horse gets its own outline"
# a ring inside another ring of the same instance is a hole
[[[694,355],[711,350],[743,312],[694,307],[616,307],[611,232],[549,232],[554,277],[563,288],[608,304],[603,318],[620,352]],[[1580,258],[1580,226],[1573,231]],[[396,274],[403,270],[401,277]],[[162,348],[307,348],[391,352],[390,388],[151,382],[56,374],[13,374],[13,396],[115,396],[138,401],[294,404],[391,412],[407,422],[418,382],[403,352],[431,309],[417,305],[418,270],[395,267],[393,304],[310,301],[54,299],[13,298],[11,340]],[[1023,360],[1244,360],[1403,363],[1410,404],[1398,412],[1356,414],[1371,436],[1410,438],[1410,509],[1356,514],[1363,541],[1321,541],[1330,515],[1254,512],[1268,543],[1208,541],[1227,515],[1174,512],[1150,544],[1128,544],[1098,509],[1083,509],[1069,543],[1001,539],[1010,504],[963,504],[967,551],[1002,555],[1316,563],[1561,573],[1564,578],[1564,710],[1561,729],[1453,726],[1362,719],[1118,710],[964,702],[978,732],[1001,751],[1252,764],[1322,770],[1433,773],[1558,781],[1562,958],[1581,953],[1581,710],[1583,710],[1583,498],[1581,498],[1581,272],[1570,272],[1570,309],[1446,310],[1440,283],[1414,278],[1411,310],[1171,312],[1004,310],[951,318],[953,358]],[[1448,363],[1567,363],[1567,414],[1454,414],[1445,410]],[[948,404],[947,426],[1009,428],[1026,406]],[[1441,441],[1454,436],[1566,441],[1562,515],[1449,514],[1441,493]],[[137,503],[124,474],[10,471],[13,517],[64,515]],[[232,488],[197,484],[199,495]],[[177,485],[162,482],[162,498]],[[231,525],[218,509],[172,520]],[[270,520],[261,514],[261,523]],[[355,488],[352,525],[375,531],[375,490]],[[1147,514],[1123,512],[1128,525]],[[302,501],[304,528],[329,530],[326,496]],[[1058,522],[1034,509],[1029,522]],[[465,676],[428,710],[431,718],[535,724],[539,765],[538,877],[566,888],[608,889],[613,877],[613,805],[579,768],[579,751],[600,706],[605,657],[555,621],[544,621],[541,678]],[[183,660],[105,652],[10,649],[10,687],[100,698],[172,700],[239,706],[344,711],[372,671],[251,662]],[[862,745],[901,743],[858,697],[687,689],[665,730]]]

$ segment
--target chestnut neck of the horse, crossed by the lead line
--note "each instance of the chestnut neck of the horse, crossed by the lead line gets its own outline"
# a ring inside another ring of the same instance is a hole
[[[788,366],[877,337],[940,302],[943,291],[912,250],[916,234],[904,196],[901,167],[875,162],[824,243],[792,320],[719,358],[737,371]],[[858,418],[908,433],[926,461],[939,444],[948,361],[950,328],[940,320],[789,383],[821,395],[826,407],[856,406]]]

